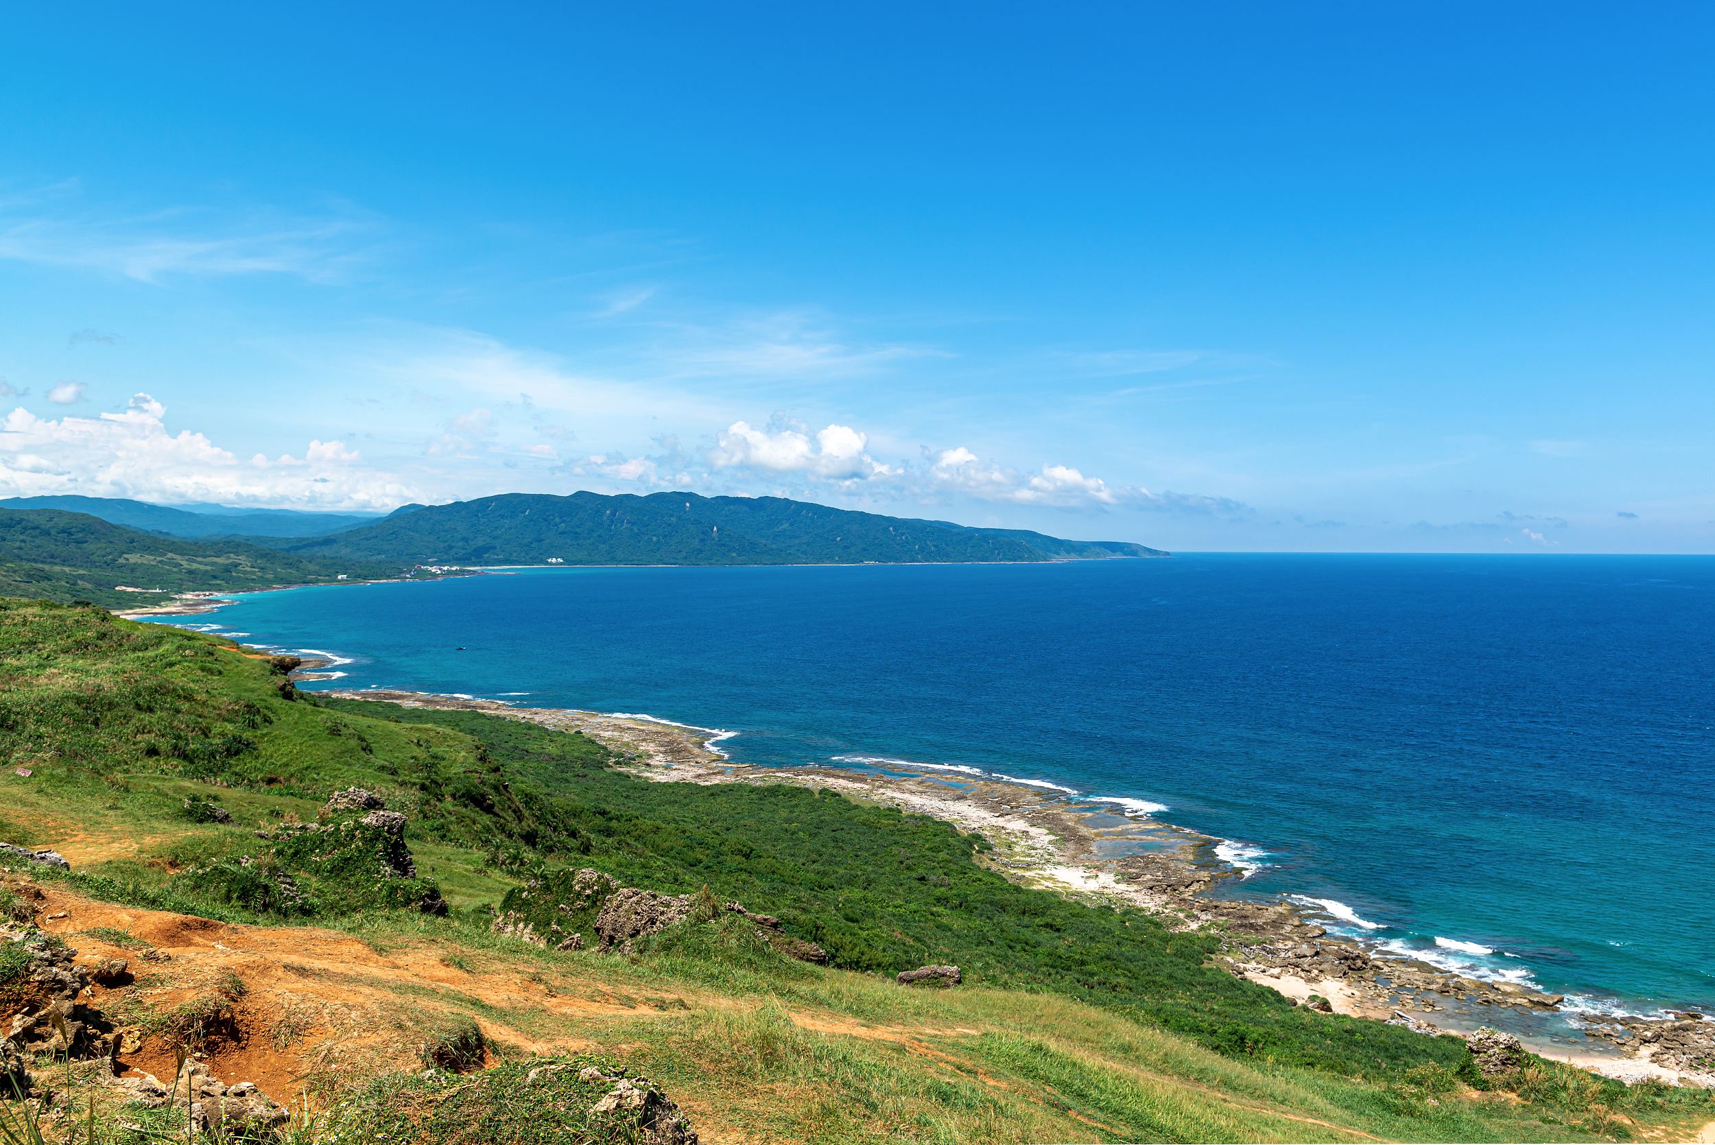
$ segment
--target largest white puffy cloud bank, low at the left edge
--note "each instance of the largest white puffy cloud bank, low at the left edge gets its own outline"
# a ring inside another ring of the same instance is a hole
[[[398,478],[353,468],[360,456],[340,441],[312,441],[302,458],[244,461],[202,434],[168,430],[165,417],[149,394],[93,418],[12,410],[0,422],[0,492],[305,509],[389,509],[417,499]]]

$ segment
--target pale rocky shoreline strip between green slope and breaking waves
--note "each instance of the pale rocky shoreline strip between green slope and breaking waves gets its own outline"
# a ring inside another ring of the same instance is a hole
[[[1127,814],[1123,800],[1116,799],[1068,799],[1063,790],[1039,782],[931,771],[876,758],[856,758],[851,766],[753,766],[731,759],[719,747],[734,732],[633,713],[523,708],[499,699],[388,689],[331,689],[326,694],[485,711],[583,732],[619,751],[629,761],[626,770],[648,780],[796,783],[931,816],[988,840],[993,850],[978,860],[1015,883],[1091,903],[1142,908],[1175,929],[1218,932],[1223,939],[1218,960],[1230,972],[1298,1004],[1437,1034],[1511,1025],[1533,1052],[1605,1076],[1715,1087],[1715,1070],[1700,1064],[1715,1059],[1715,1020],[1706,1015],[1604,1018],[1585,1028],[1588,1046],[1576,1047],[1531,1035],[1530,1018],[1554,1015],[1562,998],[1365,948],[1329,934],[1312,915],[1315,907],[1285,898],[1223,898],[1219,891],[1243,878],[1243,867],[1231,860],[1233,852],[1219,854],[1235,845],[1154,819],[1152,806]]]

